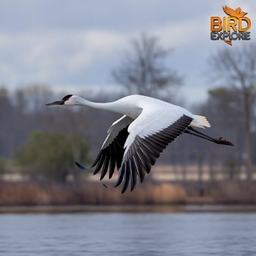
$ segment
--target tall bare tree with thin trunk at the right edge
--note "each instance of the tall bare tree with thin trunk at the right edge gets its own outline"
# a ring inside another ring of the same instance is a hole
[[[251,181],[253,174],[252,122],[256,97],[256,45],[246,45],[238,50],[220,50],[211,57],[209,62],[216,80],[222,85],[231,87],[231,91],[236,91],[234,94],[236,105],[233,111],[238,109],[238,120],[242,120],[244,124],[246,171],[247,179]]]

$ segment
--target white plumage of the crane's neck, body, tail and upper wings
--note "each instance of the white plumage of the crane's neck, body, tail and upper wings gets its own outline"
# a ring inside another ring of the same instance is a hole
[[[113,123],[115,124],[117,131],[119,131],[120,127],[123,127],[124,124],[130,124],[128,128],[129,137],[124,144],[126,151],[134,141],[135,136],[138,135],[140,138],[145,138],[147,135],[159,132],[160,130],[170,126],[170,124],[173,124],[174,121],[177,121],[178,118],[181,118],[183,115],[189,116],[193,119],[191,124],[189,124],[190,126],[200,128],[211,127],[204,116],[193,115],[188,110],[177,105],[143,95],[129,95],[118,99],[115,102],[107,103],[89,102],[86,99],[73,95],[64,103],[64,105],[86,105],[91,108],[120,113],[132,118],[134,121],[127,122],[127,119],[124,121],[124,118],[120,118]],[[108,130],[108,134],[111,134],[111,132],[114,132],[113,129]],[[113,135],[111,137],[113,137]],[[106,145],[108,146],[109,139],[110,138],[107,138],[105,140],[102,148]]]

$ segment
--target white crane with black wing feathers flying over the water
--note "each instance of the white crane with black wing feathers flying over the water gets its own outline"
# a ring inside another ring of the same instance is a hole
[[[138,178],[142,183],[167,144],[183,132],[217,144],[233,146],[233,143],[222,137],[211,138],[193,128],[211,127],[205,116],[194,115],[177,105],[142,95],[130,95],[115,102],[99,103],[69,94],[46,105],[85,105],[123,115],[108,129],[108,136],[91,165],[95,167],[94,174],[101,171],[100,180],[108,171],[111,178],[117,168],[119,173],[114,187],[123,183],[121,193],[127,190],[129,183],[132,191]],[[78,167],[85,168],[78,162],[75,163]]]

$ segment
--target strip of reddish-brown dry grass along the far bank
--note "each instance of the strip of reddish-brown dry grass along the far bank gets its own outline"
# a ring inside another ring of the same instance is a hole
[[[133,192],[106,189],[102,183],[39,184],[1,182],[0,206],[124,206],[168,204],[255,204],[256,184],[246,181],[147,182]]]

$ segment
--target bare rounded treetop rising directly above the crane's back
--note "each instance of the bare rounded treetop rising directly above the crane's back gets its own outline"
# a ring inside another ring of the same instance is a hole
[[[131,41],[121,66],[112,72],[114,80],[129,94],[156,95],[169,86],[181,85],[182,78],[168,68],[165,59],[170,50],[159,45],[157,37],[141,34]]]

